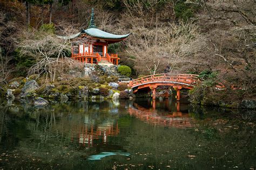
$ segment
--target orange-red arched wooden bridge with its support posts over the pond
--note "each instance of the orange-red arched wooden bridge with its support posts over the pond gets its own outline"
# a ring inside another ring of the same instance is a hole
[[[196,74],[154,74],[130,81],[129,86],[133,93],[140,89],[151,89],[153,99],[156,98],[156,88],[159,86],[170,86],[177,90],[177,100],[180,100],[180,89],[192,89],[200,79]],[[169,96],[166,92],[165,96]]]

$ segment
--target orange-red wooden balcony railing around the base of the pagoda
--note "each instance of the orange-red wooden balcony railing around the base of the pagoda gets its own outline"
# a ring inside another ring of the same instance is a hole
[[[91,63],[91,64],[99,64],[101,61],[108,61],[110,63],[113,63],[113,65],[118,65],[118,58],[117,54],[108,54],[106,53],[106,56],[101,56],[99,53],[78,53],[71,55],[71,58],[74,60],[78,60],[83,63]]]

